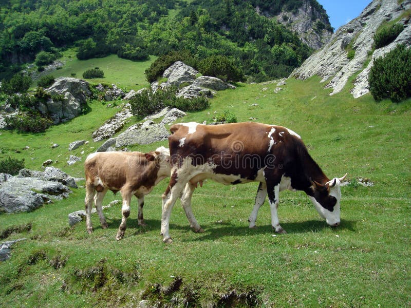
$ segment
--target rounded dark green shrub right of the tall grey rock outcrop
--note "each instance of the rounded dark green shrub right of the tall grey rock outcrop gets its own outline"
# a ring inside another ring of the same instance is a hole
[[[225,55],[212,55],[200,61],[198,70],[207,76],[214,76],[223,81],[241,81],[244,73],[233,60]]]

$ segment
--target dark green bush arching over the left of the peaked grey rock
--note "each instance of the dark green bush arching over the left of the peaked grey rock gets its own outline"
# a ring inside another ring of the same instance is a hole
[[[158,77],[163,75],[163,72],[172,66],[175,62],[181,61],[186,65],[190,65],[193,68],[197,67],[197,60],[194,55],[188,50],[171,51],[167,54],[159,56],[149,68],[144,71],[148,82],[152,83],[157,80]]]

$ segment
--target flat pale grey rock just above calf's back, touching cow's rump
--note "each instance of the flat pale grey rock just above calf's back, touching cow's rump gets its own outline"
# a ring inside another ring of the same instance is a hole
[[[169,137],[163,124],[148,125],[145,128],[124,131],[116,138],[116,147],[122,147],[132,144],[150,144],[161,141]]]

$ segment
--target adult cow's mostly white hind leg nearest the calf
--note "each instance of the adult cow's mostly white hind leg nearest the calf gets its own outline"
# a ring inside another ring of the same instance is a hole
[[[173,239],[170,237],[170,215],[171,210],[181,194],[181,190],[185,185],[184,183],[172,182],[170,180],[169,186],[165,190],[162,199],[163,199],[163,210],[161,215],[161,235],[163,236],[164,243],[172,243]]]

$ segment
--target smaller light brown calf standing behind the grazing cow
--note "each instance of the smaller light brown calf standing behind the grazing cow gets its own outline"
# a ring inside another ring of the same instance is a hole
[[[141,152],[96,152],[90,154],[84,162],[86,175],[86,225],[88,233],[92,233],[90,219],[92,201],[94,199],[101,226],[107,228],[101,203],[107,192],[120,191],[123,199],[123,218],[116,236],[120,240],[124,236],[127,217],[130,215],[132,196],[138,199],[138,224],[144,226],[144,196],[166,177],[170,177],[170,151],[160,147],[156,151]],[[96,194],[97,192],[97,194]]]

